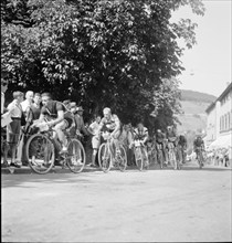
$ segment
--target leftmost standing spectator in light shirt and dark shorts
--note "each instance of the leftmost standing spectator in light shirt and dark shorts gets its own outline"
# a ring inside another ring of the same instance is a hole
[[[9,149],[12,152],[10,166],[20,168],[20,165],[15,162],[17,146],[19,142],[20,130],[21,130],[21,117],[22,107],[21,102],[23,101],[22,92],[13,92],[13,102],[8,105],[8,110],[11,114],[12,122],[7,125],[7,148],[4,150],[4,162],[7,162]]]

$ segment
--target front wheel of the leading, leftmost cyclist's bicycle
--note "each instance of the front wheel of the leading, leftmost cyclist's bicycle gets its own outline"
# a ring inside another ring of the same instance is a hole
[[[36,173],[48,173],[54,166],[54,145],[45,135],[32,135],[25,145],[25,155],[30,168]]]

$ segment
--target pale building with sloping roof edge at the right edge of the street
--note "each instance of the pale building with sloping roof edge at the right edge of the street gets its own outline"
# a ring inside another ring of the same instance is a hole
[[[205,112],[205,144],[211,147],[232,147],[232,83]]]

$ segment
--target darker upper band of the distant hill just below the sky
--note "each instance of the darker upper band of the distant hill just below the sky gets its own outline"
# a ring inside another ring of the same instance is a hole
[[[196,92],[196,91],[181,89],[181,101],[212,103],[215,99],[217,97],[213,95],[209,95],[209,94]]]

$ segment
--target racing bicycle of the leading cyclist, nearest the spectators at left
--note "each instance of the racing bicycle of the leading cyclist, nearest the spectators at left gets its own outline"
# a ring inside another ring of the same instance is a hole
[[[40,133],[32,135],[25,145],[25,155],[30,168],[40,175],[48,173],[57,159],[61,166],[68,168],[74,173],[80,173],[84,169],[86,155],[82,142],[75,137],[65,133],[67,138],[67,152],[59,155],[62,148],[61,141],[53,137],[53,128],[45,125],[40,127]]]

